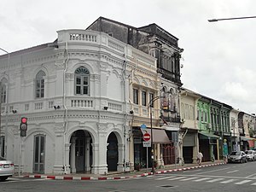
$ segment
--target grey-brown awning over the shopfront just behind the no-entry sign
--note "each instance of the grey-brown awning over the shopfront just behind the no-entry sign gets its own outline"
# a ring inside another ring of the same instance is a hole
[[[151,137],[151,129],[142,129],[143,133],[148,132]],[[169,137],[166,135],[166,131],[162,129],[152,129],[153,143],[171,143]],[[152,137],[151,137],[152,138]]]

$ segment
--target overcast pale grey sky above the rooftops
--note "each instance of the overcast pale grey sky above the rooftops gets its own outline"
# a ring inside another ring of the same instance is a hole
[[[256,113],[256,19],[207,21],[255,15],[255,0],[2,0],[0,48],[50,43],[57,31],[85,29],[100,16],[135,27],[155,23],[184,49],[183,87]]]

